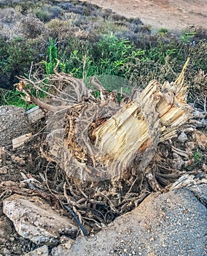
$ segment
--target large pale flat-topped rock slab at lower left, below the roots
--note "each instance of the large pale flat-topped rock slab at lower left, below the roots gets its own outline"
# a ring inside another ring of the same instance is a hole
[[[57,244],[60,233],[77,233],[71,220],[58,215],[39,197],[12,195],[3,202],[3,211],[15,225],[20,236],[38,245]]]

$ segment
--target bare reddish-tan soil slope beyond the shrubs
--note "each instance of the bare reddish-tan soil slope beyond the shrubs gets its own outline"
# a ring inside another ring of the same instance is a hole
[[[188,26],[203,26],[207,29],[206,0],[90,0],[92,4],[112,9],[127,18],[140,18],[152,28],[170,30]]]

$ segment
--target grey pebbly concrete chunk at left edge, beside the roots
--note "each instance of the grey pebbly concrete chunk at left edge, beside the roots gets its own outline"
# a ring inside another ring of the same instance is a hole
[[[12,139],[30,132],[25,110],[14,106],[0,107],[0,146],[12,144]]]

